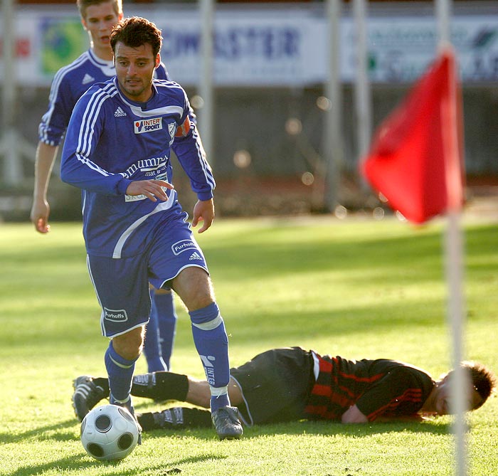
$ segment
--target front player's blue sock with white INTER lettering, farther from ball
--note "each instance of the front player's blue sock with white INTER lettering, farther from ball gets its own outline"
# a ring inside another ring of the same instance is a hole
[[[189,314],[194,343],[211,391],[211,411],[216,411],[221,406],[230,405],[228,399],[230,365],[225,323],[216,302]]]

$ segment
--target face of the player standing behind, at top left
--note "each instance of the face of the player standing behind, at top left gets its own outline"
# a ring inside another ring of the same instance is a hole
[[[83,27],[90,33],[95,53],[103,59],[112,58],[109,38],[112,28],[122,17],[122,13],[116,14],[111,1],[104,1],[88,6],[85,17],[81,18]]]

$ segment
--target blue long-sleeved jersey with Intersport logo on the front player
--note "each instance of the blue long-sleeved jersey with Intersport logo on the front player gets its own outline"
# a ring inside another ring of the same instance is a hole
[[[198,199],[213,196],[213,174],[196,125],[189,122],[186,92],[177,83],[157,79],[152,90],[147,102],[133,102],[112,78],[93,85],[75,105],[60,176],[83,189],[83,235],[90,255],[142,253],[167,214],[178,216],[176,191],[166,190],[164,202],[125,194],[133,180],[171,183],[171,149]]]

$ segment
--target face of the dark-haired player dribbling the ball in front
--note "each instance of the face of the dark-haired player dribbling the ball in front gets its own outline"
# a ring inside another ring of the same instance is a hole
[[[138,48],[126,46],[120,41],[115,46],[117,81],[124,95],[133,101],[145,102],[152,95],[152,77],[161,57],[154,58],[152,46],[145,43]]]

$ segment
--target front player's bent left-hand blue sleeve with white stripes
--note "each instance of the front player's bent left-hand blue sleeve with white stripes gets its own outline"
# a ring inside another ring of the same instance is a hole
[[[105,128],[105,115],[92,114],[92,110],[103,94],[100,88],[94,87],[76,103],[64,142],[60,178],[80,189],[122,195],[131,181],[122,174],[102,169],[92,161],[92,153]]]

